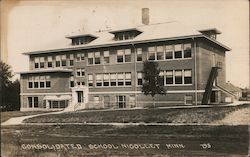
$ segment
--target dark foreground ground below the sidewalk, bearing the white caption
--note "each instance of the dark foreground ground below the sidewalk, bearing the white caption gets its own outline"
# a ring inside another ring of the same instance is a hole
[[[31,156],[159,156],[245,157],[248,153],[248,126],[4,126],[1,151],[5,157]],[[183,144],[183,149],[168,149],[166,144]],[[32,144],[80,144],[81,149],[27,149]],[[90,145],[113,144],[118,149],[91,148]],[[122,144],[159,144],[159,149],[129,149]],[[201,144],[210,144],[204,149]]]

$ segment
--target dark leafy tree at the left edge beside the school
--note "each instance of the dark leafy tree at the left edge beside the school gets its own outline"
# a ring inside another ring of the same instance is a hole
[[[13,75],[11,67],[0,61],[0,100],[1,111],[13,111],[20,108],[20,83],[18,80],[12,82]]]

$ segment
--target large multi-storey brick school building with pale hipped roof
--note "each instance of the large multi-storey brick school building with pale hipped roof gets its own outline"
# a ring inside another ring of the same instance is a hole
[[[20,73],[21,110],[148,107],[153,100],[141,92],[145,60],[159,63],[167,89],[156,106],[225,102],[235,96],[223,88],[230,49],[216,40],[220,33],[144,22],[67,36],[64,47],[24,53],[30,70]]]

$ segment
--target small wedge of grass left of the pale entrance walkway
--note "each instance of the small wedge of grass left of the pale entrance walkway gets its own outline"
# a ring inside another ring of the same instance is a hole
[[[20,111],[8,111],[8,112],[1,112],[1,123],[13,118],[13,117],[21,117],[21,116],[29,116],[34,114],[46,113],[50,111],[27,111],[27,112],[20,112]]]

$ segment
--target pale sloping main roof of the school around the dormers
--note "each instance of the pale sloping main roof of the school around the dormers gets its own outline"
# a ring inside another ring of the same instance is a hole
[[[125,28],[123,30],[131,30],[131,29],[132,28],[130,27],[130,28]],[[121,30],[122,29],[119,29],[119,31]],[[90,49],[90,48],[118,46],[118,45],[127,45],[127,44],[138,44],[138,43],[145,43],[145,42],[157,42],[157,41],[164,41],[164,40],[165,41],[177,40],[177,39],[186,39],[186,38],[195,38],[195,37],[207,38],[201,32],[197,30],[193,30],[189,27],[183,26],[183,24],[176,22],[176,21],[150,24],[150,25],[140,25],[140,26],[134,27],[133,30],[138,30],[142,33],[133,39],[116,41],[114,40],[114,34],[110,32],[116,32],[117,29],[107,30],[107,31],[98,31],[98,32],[91,33],[92,36],[96,36],[98,38],[96,38],[95,40],[93,40],[92,42],[88,44],[60,45],[60,46],[52,47],[50,49],[30,51],[24,54],[31,55],[31,54],[71,51],[71,50]],[[226,51],[230,50],[230,48],[226,47],[225,45],[215,40],[211,40],[211,41],[221,46]]]

